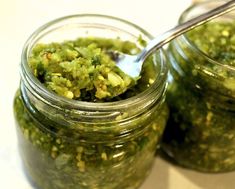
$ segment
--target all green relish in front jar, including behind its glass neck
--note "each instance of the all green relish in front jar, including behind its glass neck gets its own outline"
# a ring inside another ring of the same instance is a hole
[[[95,18],[104,27],[104,17]],[[31,49],[24,51],[14,112],[25,170],[39,188],[135,189],[150,172],[168,117],[164,53],[150,58],[136,79],[104,53],[135,54],[135,39],[88,36],[26,45]]]

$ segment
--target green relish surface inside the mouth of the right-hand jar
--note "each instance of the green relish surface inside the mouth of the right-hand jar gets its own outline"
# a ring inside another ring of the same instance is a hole
[[[213,60],[235,66],[234,30],[235,22],[211,22],[188,32],[187,37]]]

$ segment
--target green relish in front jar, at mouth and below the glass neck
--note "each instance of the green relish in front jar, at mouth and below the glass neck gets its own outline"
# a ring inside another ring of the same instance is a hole
[[[119,39],[80,38],[61,44],[37,45],[30,58],[30,67],[49,90],[74,100],[118,101],[135,96],[151,86],[157,71],[149,59],[136,85],[121,95],[109,98],[116,91],[109,83],[107,74],[114,74],[118,77],[118,82],[120,79],[124,83],[124,78],[127,77],[119,70],[116,71],[113,63],[106,64],[106,60],[110,61],[110,58],[104,52],[110,49],[129,54],[139,51],[134,43]],[[78,58],[79,56],[82,57]],[[87,63],[83,65],[83,71],[87,72],[86,69],[92,68],[93,73],[93,79],[90,76],[82,79],[83,82],[87,81],[83,87],[76,82],[77,74],[82,72],[81,67],[78,67],[80,63]],[[96,68],[93,64],[96,64]],[[100,69],[100,66],[109,71],[103,73],[105,69]],[[96,90],[94,79],[100,81],[99,77],[103,77],[101,81],[104,79],[108,83],[105,83],[107,89],[101,96]],[[73,95],[67,91],[71,91]],[[107,95],[107,92],[110,94]],[[132,118],[128,124],[136,129],[123,134],[123,125],[115,121],[121,120],[129,112],[117,116],[114,123],[107,123],[107,131],[99,132],[99,128],[104,127],[102,120],[94,123],[92,120],[91,123],[81,120],[63,125],[63,120],[61,124],[58,121],[53,122],[57,119],[56,114],[53,118],[46,117],[33,108],[17,92],[14,113],[18,123],[20,153],[29,177],[42,189],[138,188],[150,171],[168,117],[168,109],[164,103],[160,107],[154,106],[145,114]],[[58,116],[58,119],[63,118]],[[109,126],[115,126],[115,129],[110,131]],[[82,133],[79,128],[83,128]],[[91,129],[93,133],[90,133]]]

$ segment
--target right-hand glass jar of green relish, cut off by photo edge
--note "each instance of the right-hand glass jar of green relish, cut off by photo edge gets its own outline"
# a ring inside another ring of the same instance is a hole
[[[181,15],[179,23],[224,2],[193,5]],[[233,20],[234,12],[208,23],[207,28],[211,23]],[[194,34],[198,39],[205,35]],[[211,49],[221,39],[213,40]],[[231,171],[235,169],[235,67],[212,58],[195,41],[185,34],[168,48],[170,117],[162,148],[184,167],[204,172]]]

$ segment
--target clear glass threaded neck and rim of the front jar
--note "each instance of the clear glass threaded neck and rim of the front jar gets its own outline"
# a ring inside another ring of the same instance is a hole
[[[141,35],[146,41],[151,39],[150,34],[142,28],[125,20],[104,15],[73,15],[49,22],[36,30],[24,46],[21,59],[22,96],[25,104],[29,104],[29,109],[31,108],[32,112],[40,112],[60,124],[68,125],[69,123],[69,125],[76,125],[76,122],[85,124],[98,123],[99,125],[103,124],[103,127],[100,126],[98,129],[107,131],[107,127],[110,130],[112,129],[112,126],[107,126],[107,124],[118,123],[120,127],[127,129],[125,127],[130,125],[128,122],[138,119],[143,114],[148,115],[153,107],[156,110],[156,107],[160,107],[164,101],[167,66],[162,49],[156,53],[157,58],[154,60],[154,65],[158,69],[155,82],[140,94],[116,102],[95,103],[61,97],[47,90],[34,77],[28,65],[29,55],[36,43],[50,40],[53,42],[53,40],[75,39],[78,36],[74,36],[74,32],[77,32],[77,35],[93,36],[94,34],[90,32],[90,28],[95,28],[95,32],[98,32],[98,35],[104,35],[102,31],[108,31],[110,38],[120,35],[124,40],[134,40]],[[89,128],[87,129],[89,130]]]

